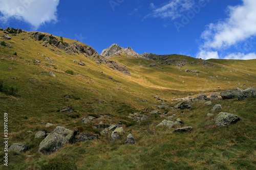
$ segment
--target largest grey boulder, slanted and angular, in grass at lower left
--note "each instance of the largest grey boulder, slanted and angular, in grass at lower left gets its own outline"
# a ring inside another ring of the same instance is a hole
[[[69,143],[73,136],[74,131],[57,126],[52,133],[40,142],[38,152],[50,155]]]

